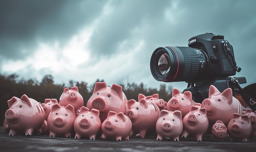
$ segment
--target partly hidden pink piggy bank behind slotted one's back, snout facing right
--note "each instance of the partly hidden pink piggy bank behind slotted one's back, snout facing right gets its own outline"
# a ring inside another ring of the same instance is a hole
[[[166,109],[166,102],[163,99],[159,99],[158,94],[154,94],[147,97],[142,94],[139,94],[138,99],[139,99],[138,101],[140,101],[141,99],[146,99],[146,101],[151,101],[155,103],[160,110]]]

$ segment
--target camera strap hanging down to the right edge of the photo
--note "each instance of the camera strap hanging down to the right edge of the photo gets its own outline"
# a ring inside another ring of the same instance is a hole
[[[246,104],[252,109],[252,111],[256,111],[256,100],[245,93],[243,88],[240,87],[238,80],[231,77],[232,84],[236,87],[236,91],[242,96],[245,100]]]

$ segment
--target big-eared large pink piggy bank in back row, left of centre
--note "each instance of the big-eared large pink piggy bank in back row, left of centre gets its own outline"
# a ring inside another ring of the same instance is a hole
[[[103,122],[108,117],[109,111],[125,113],[127,98],[122,91],[122,86],[113,84],[108,87],[105,82],[97,82],[86,107],[90,110],[92,108],[99,110],[99,117]]]

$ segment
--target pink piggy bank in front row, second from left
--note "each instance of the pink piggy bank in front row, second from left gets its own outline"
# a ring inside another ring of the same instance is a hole
[[[73,106],[69,104],[64,108],[59,104],[54,104],[47,119],[49,137],[64,135],[65,137],[70,138],[74,129],[75,119],[76,116],[74,114]]]

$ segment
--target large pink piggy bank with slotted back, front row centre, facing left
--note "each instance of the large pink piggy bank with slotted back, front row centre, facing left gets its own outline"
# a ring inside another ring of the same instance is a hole
[[[131,136],[139,133],[140,137],[144,138],[147,131],[155,133],[155,124],[160,113],[156,104],[145,99],[139,102],[131,99],[128,101],[128,108],[126,116],[132,121]]]

